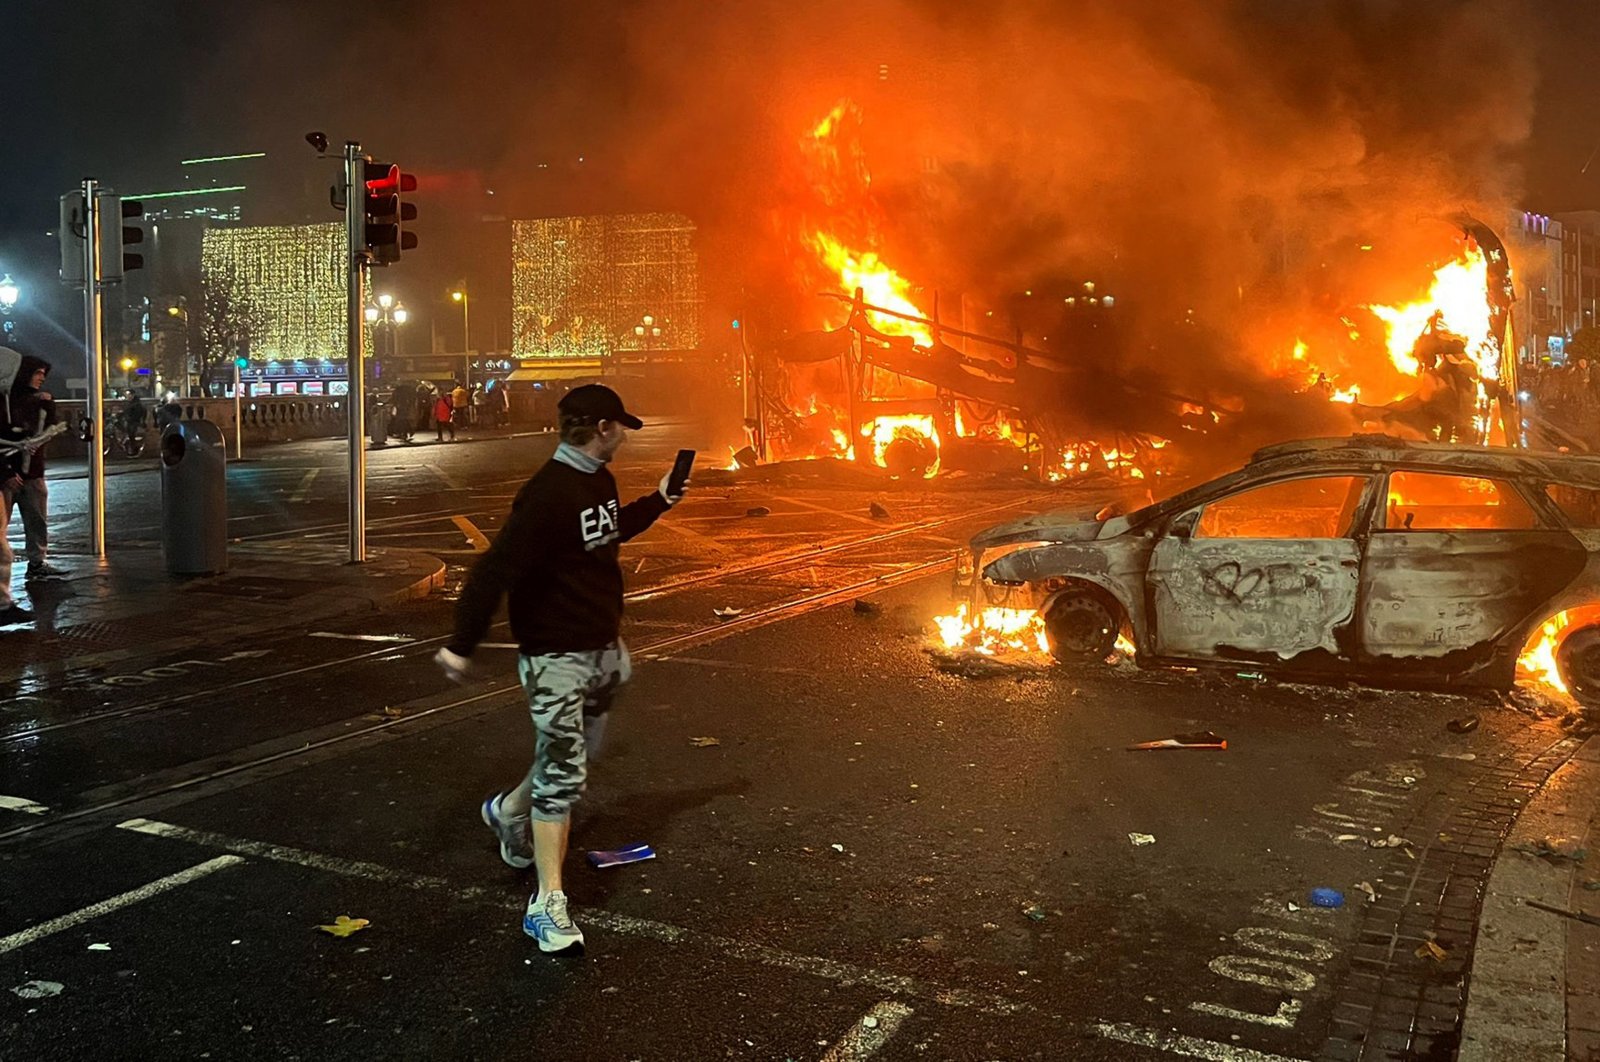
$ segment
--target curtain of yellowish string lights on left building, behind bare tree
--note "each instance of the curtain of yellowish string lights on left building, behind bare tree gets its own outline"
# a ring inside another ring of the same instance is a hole
[[[206,229],[206,293],[250,321],[250,357],[344,361],[344,226]]]

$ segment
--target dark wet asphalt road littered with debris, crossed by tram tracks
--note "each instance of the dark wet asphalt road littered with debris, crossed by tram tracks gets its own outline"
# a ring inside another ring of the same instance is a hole
[[[624,496],[680,441],[702,440],[638,437]],[[374,544],[469,563],[456,517],[493,534],[550,446],[376,454]],[[240,465],[232,533],[339,549],[339,467],[326,443]],[[112,480],[117,533],[142,534],[154,481]],[[1072,501],[709,486],[626,547],[638,669],[573,828],[578,960],[522,934],[531,876],[477,819],[531,734],[509,649],[483,649],[467,688],[429,664],[450,593],[322,629],[382,643],[216,632],[224,673],[158,691],[51,672],[0,709],[0,795],[45,808],[0,809],[0,988],[62,992],[0,993],[0,1054],[1334,1057],[1382,908],[1458,888],[1435,883],[1437,852],[1470,870],[1488,838],[1464,844],[1451,816],[1563,734],[1482,697],[1128,664],[939,672],[925,625],[947,573],[923,566]],[[1466,713],[1482,726],[1448,733]],[[1195,729],[1229,749],[1125,750]],[[659,857],[581,862],[632,841]],[[1314,886],[1346,905],[1312,908]],[[338,915],[371,924],[315,931]],[[1413,1020],[1413,1057],[1448,1057],[1472,940],[1470,920],[1430,926],[1446,958],[1398,934],[1384,955],[1442,1008],[1437,1038]]]

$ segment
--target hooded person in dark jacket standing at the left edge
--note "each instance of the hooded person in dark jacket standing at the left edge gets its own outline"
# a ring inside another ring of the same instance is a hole
[[[46,560],[50,528],[43,446],[66,430],[56,417],[54,398],[45,390],[48,374],[46,361],[0,347],[0,395],[5,405],[5,417],[0,419],[0,625],[34,619],[11,597],[13,555],[6,531],[13,507],[22,512],[27,581],[66,574]]]

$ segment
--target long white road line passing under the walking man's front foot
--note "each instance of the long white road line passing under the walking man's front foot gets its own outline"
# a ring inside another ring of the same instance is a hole
[[[269,844],[266,841],[240,840],[222,833],[210,833],[206,830],[190,830],[189,827],[174,825],[171,822],[128,819],[125,822],[118,822],[117,828],[131,830],[134,833],[149,833],[152,836],[165,836],[178,841],[189,841],[205,848],[221,848],[240,856],[254,856],[258,859],[272,859],[277,862],[296,864],[299,867],[310,867],[314,870],[326,870],[347,878],[365,878],[368,881],[382,881],[410,889],[437,889],[440,892],[451,894],[454,899],[490,902],[507,910],[520,912],[523,908],[522,899],[507,902],[504,896],[499,894],[501,889],[490,892],[477,886],[462,888],[445,878],[411,873],[408,870],[394,870],[390,867],[360,862],[355,859],[338,859],[334,856],[323,856],[320,852],[309,852],[282,844]],[[779,969],[789,969],[800,974],[811,974],[813,977],[834,980],[843,985],[867,985],[893,995],[920,996],[946,1006],[970,1008],[989,1014],[1022,1014],[1035,1011],[1035,1008],[1027,1003],[1008,1000],[1006,996],[987,992],[946,988],[944,985],[918,980],[904,974],[891,974],[869,966],[854,966],[851,963],[840,963],[818,955],[798,955],[795,952],[786,952],[784,948],[774,948],[765,944],[733,940],[693,929],[683,929],[682,926],[672,926],[662,921],[618,915],[600,908],[578,908],[574,913],[581,915],[594,926],[611,929],[613,932],[624,936],[658,940],[661,944],[693,944],[698,947],[707,947],[731,958],[760,963],[763,966],[776,966]]]

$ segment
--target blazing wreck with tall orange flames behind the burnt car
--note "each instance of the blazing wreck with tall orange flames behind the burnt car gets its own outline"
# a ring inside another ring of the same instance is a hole
[[[840,459],[910,480],[942,470],[1110,477],[1154,494],[1178,462],[1203,472],[1304,435],[1518,441],[1506,432],[1520,421],[1509,264],[1494,234],[1467,216],[1434,222],[1435,254],[1402,270],[1408,278],[1373,285],[1411,297],[1339,296],[1298,321],[1280,312],[1238,337],[1278,333],[1267,341],[1277,353],[1245,365],[1235,355],[1206,379],[1150,366],[1154,344],[1134,368],[1120,331],[1126,301],[1094,281],[1059,299],[1056,325],[1043,325],[1056,341],[1013,321],[997,331],[995,312],[966,294],[950,299],[960,307],[952,321],[936,288],[886,261],[864,123],[846,101],[800,142],[810,194],[779,222],[813,304],[838,313],[822,328],[755,329],[742,464]],[[1218,337],[1200,334],[1194,310],[1184,325],[1194,334],[1165,336],[1173,360],[1210,357]]]

